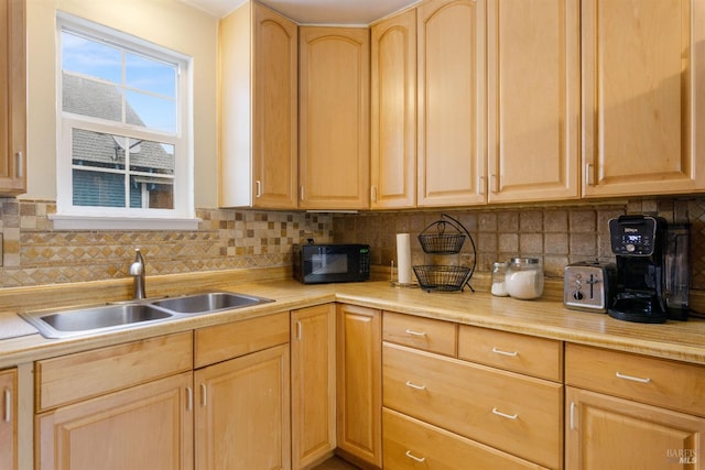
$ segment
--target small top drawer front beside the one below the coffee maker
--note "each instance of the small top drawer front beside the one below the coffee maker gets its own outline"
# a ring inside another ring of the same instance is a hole
[[[460,325],[458,358],[556,382],[563,376],[563,343],[552,339]]]

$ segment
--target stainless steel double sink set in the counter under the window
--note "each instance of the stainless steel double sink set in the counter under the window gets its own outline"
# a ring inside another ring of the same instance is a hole
[[[70,338],[124,330],[270,302],[274,300],[232,292],[210,292],[65,310],[26,311],[19,315],[45,338]]]

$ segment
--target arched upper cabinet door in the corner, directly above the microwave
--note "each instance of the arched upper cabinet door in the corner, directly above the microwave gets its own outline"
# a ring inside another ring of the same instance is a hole
[[[299,177],[304,209],[369,208],[369,30],[300,29]]]

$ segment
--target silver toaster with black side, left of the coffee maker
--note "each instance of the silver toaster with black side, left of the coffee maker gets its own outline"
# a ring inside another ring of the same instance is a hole
[[[614,263],[583,261],[568,264],[563,275],[563,305],[576,310],[605,313],[616,282]]]

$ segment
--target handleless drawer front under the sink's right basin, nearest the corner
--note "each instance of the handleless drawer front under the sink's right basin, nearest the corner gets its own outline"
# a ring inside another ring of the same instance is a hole
[[[195,331],[194,368],[289,342],[289,311],[200,328]]]

